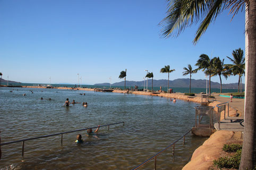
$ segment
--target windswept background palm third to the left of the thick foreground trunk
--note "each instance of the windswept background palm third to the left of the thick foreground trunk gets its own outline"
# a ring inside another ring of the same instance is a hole
[[[198,69],[202,69],[204,71],[204,74],[209,75],[209,94],[211,95],[211,76],[214,74],[213,70],[213,64],[212,59],[210,59],[207,55],[202,54],[199,56],[199,59],[197,61],[197,64],[195,66],[198,66]]]

